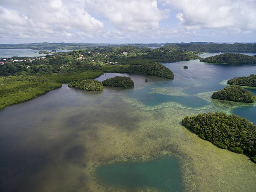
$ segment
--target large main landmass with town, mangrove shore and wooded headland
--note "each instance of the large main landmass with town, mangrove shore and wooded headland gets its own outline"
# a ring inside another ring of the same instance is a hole
[[[38,48],[55,49],[50,46],[47,48],[39,46]],[[38,48],[35,47],[35,49]],[[73,47],[73,49],[76,48]],[[40,51],[40,53],[45,53],[42,52],[43,50]],[[129,54],[124,56],[123,52],[129,52]],[[170,46],[151,49],[131,45],[90,46],[85,50],[59,52],[44,57],[13,56],[5,58],[5,60],[1,60],[3,62],[0,65],[0,108],[31,99],[38,94],[44,94],[60,87],[61,83],[94,79],[106,72],[139,73],[174,79],[172,71],[158,62],[198,58],[199,56],[195,52],[177,50]],[[51,83],[49,86],[47,83],[41,86],[37,80],[35,83],[30,77],[35,77],[35,79],[41,77]],[[26,86],[23,84],[23,79],[26,79]],[[53,84],[54,86],[52,86]],[[16,89],[10,89],[13,86]],[[22,94],[20,93],[22,96],[15,90],[22,90]]]

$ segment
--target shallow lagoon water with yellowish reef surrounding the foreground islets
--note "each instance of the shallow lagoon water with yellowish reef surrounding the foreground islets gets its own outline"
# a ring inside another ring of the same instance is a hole
[[[210,96],[227,79],[255,74],[256,65],[198,60],[164,65],[174,72],[174,80],[125,74],[134,87],[99,92],[63,84],[0,110],[0,191],[253,191],[256,166],[247,156],[200,139],[180,122],[187,115],[217,110],[231,114],[239,108],[250,119],[245,111],[255,104]],[[162,162],[160,170],[166,169],[161,179],[153,174],[157,162]],[[122,169],[108,177],[116,167]],[[128,174],[127,167],[136,169]],[[168,174],[167,167],[178,171]],[[102,169],[106,171],[99,174]],[[123,179],[140,173],[148,175],[141,176],[141,183]],[[118,175],[124,176],[115,180]]]

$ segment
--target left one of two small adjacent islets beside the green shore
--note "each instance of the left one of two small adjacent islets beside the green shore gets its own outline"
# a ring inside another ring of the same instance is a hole
[[[72,81],[69,83],[69,87],[79,88],[87,91],[100,91],[103,90],[103,84],[95,79],[85,79],[82,81]]]

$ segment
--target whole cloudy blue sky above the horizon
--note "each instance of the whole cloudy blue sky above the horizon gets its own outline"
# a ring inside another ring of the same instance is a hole
[[[255,42],[256,0],[0,0],[0,44]]]

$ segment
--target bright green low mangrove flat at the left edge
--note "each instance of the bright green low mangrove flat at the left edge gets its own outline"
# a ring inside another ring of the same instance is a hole
[[[1,77],[0,109],[10,104],[29,100],[58,87],[61,87],[61,83],[45,77]]]

